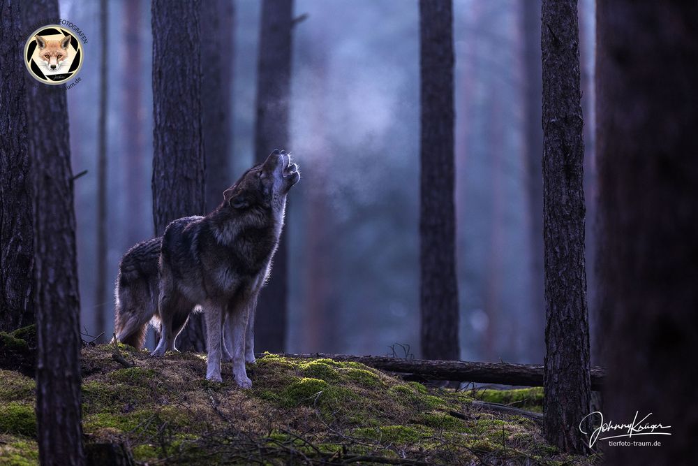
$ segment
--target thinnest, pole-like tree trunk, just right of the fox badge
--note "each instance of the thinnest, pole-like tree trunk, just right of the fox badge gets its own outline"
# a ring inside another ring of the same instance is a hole
[[[99,119],[97,149],[97,286],[95,288],[96,335],[107,330],[107,39],[109,10],[107,0],[99,4]],[[104,338],[100,340],[104,341]]]

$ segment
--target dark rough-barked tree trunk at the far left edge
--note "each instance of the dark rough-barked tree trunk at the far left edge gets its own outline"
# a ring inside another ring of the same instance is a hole
[[[14,330],[34,323],[34,227],[20,2],[0,0],[0,17],[0,330]]]

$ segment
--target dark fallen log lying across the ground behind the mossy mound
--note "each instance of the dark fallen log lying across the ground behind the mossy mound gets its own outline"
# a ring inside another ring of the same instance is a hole
[[[380,370],[417,374],[432,380],[543,386],[543,366],[539,364],[473,363],[469,361],[437,361],[394,358],[392,356],[353,356],[351,354],[324,353],[283,354],[283,356],[355,361]],[[605,379],[606,370],[603,367],[591,368],[592,390],[600,391]]]

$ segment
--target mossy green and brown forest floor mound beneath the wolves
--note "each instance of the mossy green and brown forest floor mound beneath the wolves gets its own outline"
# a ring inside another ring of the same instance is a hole
[[[537,421],[473,405],[506,402],[540,412],[540,388],[427,388],[359,363],[265,354],[248,366],[253,388],[243,391],[230,364],[223,383],[206,381],[205,366],[202,354],[151,358],[124,345],[85,347],[87,448],[123,445],[141,465],[598,462],[558,452]],[[33,379],[0,370],[0,465],[38,462],[34,396]]]

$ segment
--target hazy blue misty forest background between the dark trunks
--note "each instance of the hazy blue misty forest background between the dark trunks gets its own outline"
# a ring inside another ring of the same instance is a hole
[[[526,196],[525,6],[454,1],[459,335],[461,358],[470,361],[541,363],[544,352],[542,319],[536,320],[544,310],[531,305],[535,219]],[[88,170],[75,182],[82,326],[96,335],[102,331],[96,313],[106,312],[111,325],[114,309],[111,297],[98,303],[93,291],[98,2],[62,0],[60,7],[61,17],[80,24],[88,37],[82,80],[67,94],[73,170]],[[594,2],[581,0],[579,11],[582,106],[591,122]],[[112,289],[121,255],[154,235],[153,104],[149,2],[110,2],[108,14],[106,279]],[[284,233],[287,351],[419,356],[417,2],[297,0],[300,15],[307,17],[293,31],[291,142],[279,147],[292,153],[302,173],[289,196]],[[259,20],[260,2],[235,1],[235,43],[220,53],[234,68],[230,184],[253,164]],[[172,46],[193,52],[186,38]],[[589,214],[595,202],[591,130],[585,131]],[[587,230],[593,233],[593,215]],[[593,296],[592,241],[588,234]],[[590,296],[591,316],[594,303]],[[112,328],[104,331],[111,335]]]

